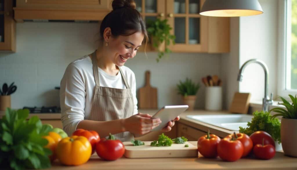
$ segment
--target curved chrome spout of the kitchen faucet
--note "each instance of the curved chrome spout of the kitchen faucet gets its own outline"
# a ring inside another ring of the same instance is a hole
[[[246,61],[240,68],[239,73],[238,73],[238,78],[237,81],[242,81],[242,73],[244,71],[244,68],[249,65],[250,63],[258,63],[262,66],[262,68],[264,69],[264,74],[265,74],[265,89],[264,89],[264,98],[267,98],[267,92],[268,92],[268,75],[269,75],[269,71],[268,71],[268,67],[267,65],[262,61],[262,60],[258,60],[258,59],[251,59]]]

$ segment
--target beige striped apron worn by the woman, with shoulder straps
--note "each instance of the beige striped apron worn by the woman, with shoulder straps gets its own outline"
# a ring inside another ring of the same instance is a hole
[[[119,67],[119,70],[126,89],[100,87],[96,51],[92,54],[92,64],[96,88],[89,119],[94,121],[111,121],[132,116],[134,111],[133,96],[121,68]],[[134,139],[133,134],[130,132],[117,133],[115,137],[122,142]]]

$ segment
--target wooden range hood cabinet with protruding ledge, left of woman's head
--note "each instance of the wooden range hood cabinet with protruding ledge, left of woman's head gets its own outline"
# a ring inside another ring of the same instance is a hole
[[[15,20],[102,20],[112,0],[16,0]]]

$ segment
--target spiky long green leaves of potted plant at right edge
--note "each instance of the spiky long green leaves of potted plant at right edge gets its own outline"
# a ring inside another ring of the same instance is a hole
[[[272,117],[282,116],[283,118],[287,119],[297,119],[297,98],[296,95],[293,97],[289,95],[292,100],[292,104],[290,104],[286,99],[279,96],[282,99],[283,103],[278,103],[278,105],[283,105],[286,107],[287,110],[283,109],[282,107],[275,107],[271,109],[269,112],[277,112],[278,114],[273,115]]]

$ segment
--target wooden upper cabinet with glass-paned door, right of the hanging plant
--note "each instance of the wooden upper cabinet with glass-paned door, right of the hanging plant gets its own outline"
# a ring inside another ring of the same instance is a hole
[[[167,0],[166,17],[176,44],[173,52],[225,53],[230,51],[230,19],[200,15],[205,0]]]

